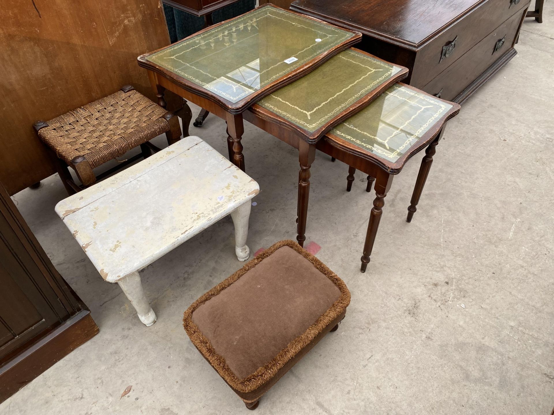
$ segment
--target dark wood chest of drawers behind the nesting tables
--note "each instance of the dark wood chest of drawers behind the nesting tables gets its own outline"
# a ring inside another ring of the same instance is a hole
[[[461,103],[516,55],[529,0],[296,0],[291,9],[358,30],[357,48],[406,66],[407,82]]]

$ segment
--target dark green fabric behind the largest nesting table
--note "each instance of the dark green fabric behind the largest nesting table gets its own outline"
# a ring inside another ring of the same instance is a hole
[[[256,0],[240,0],[216,10],[212,14],[213,23],[223,22],[223,20],[236,17],[239,14],[246,13],[256,6]],[[198,32],[204,28],[204,18],[197,17],[178,10],[174,7],[163,5],[163,12],[166,15],[167,29],[170,32],[171,43],[177,42]]]

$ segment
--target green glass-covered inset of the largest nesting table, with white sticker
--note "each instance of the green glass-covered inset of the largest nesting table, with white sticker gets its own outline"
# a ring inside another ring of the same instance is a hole
[[[266,6],[146,59],[238,102],[351,37],[345,30]]]

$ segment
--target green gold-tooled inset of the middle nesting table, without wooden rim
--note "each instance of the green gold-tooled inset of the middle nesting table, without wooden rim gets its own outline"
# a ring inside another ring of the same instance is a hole
[[[401,68],[347,49],[319,68],[258,101],[307,131],[315,131]]]

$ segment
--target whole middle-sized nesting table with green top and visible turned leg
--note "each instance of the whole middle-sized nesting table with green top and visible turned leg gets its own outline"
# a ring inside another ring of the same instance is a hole
[[[299,151],[296,240],[300,246],[306,240],[310,167],[317,142],[407,75],[402,66],[351,48],[244,113],[245,120]]]

